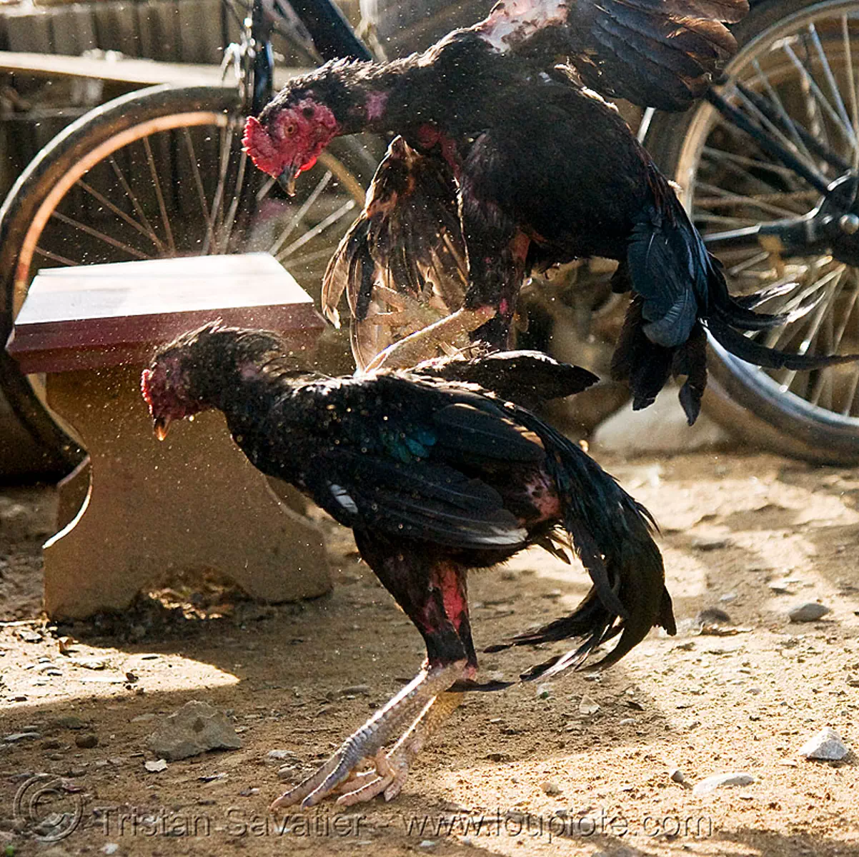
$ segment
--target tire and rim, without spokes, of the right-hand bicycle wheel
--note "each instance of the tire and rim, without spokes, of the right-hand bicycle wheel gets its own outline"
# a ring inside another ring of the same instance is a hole
[[[856,0],[765,0],[758,3],[745,20],[733,27],[740,49],[728,64],[728,78],[748,70],[753,58],[765,56],[767,46],[777,50],[787,40],[786,33],[791,32],[791,28],[798,31],[799,27],[807,27],[808,21],[812,21],[815,28],[822,27],[821,21],[826,20],[826,15],[844,15],[846,21],[848,14],[856,15],[857,11]],[[846,27],[844,23],[846,56],[859,57],[859,31],[851,29],[848,35]],[[852,62],[850,67],[854,67]],[[839,73],[845,72],[840,70]],[[645,140],[663,172],[684,189],[684,204],[699,227],[702,226],[698,220],[701,212],[696,209],[695,185],[702,170],[704,144],[713,139],[710,135],[716,128],[715,117],[714,108],[705,103],[685,113],[656,113]],[[708,123],[713,125],[708,126]],[[750,150],[754,149],[752,143],[748,145]],[[709,150],[712,152],[711,148]],[[750,172],[751,169],[749,167]],[[706,187],[712,197],[715,191],[710,184]],[[726,187],[720,185],[722,191],[729,192]],[[813,208],[813,204],[808,204],[807,208]],[[748,210],[744,212],[739,207],[738,210],[740,214],[750,214]],[[726,264],[726,270],[729,267]],[[730,280],[728,284],[732,284]],[[833,298],[833,313],[835,300]],[[772,452],[820,464],[859,463],[859,418],[850,412],[840,414],[827,410],[795,392],[784,391],[763,370],[738,360],[712,341],[711,345],[711,389],[704,400],[704,410],[716,422],[753,446]],[[805,383],[811,386],[811,382]],[[850,403],[849,409],[853,410]]]

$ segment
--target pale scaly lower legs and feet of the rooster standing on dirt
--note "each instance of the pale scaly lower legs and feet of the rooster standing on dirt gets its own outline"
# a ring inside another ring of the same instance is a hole
[[[357,732],[346,738],[339,750],[320,769],[300,782],[295,788],[289,789],[288,792],[284,792],[277,798],[271,804],[271,809],[276,810],[297,803],[301,803],[302,807],[318,804],[320,800],[337,789],[341,783],[347,781],[357,765],[365,758],[375,759],[378,774],[381,777],[391,776],[386,787],[397,782],[399,786],[393,793],[399,792],[402,782],[405,781],[408,763],[417,755],[417,750],[411,752],[410,738],[419,739],[423,736],[425,740],[439,719],[432,717],[427,720],[430,728],[424,735],[423,732],[426,727],[423,729],[421,727],[423,715],[434,707],[436,697],[444,695],[443,691],[448,690],[452,684],[462,678],[465,672],[466,664],[464,661],[458,661],[447,666],[431,667],[429,670],[419,672],[416,678],[406,684],[403,690],[400,690],[390,702],[380,708]],[[458,697],[459,695],[452,694],[451,696]],[[416,720],[419,722],[416,723]],[[415,726],[414,736],[412,736],[412,726]],[[398,734],[402,735],[402,738],[394,746],[390,757],[385,757],[385,754],[381,752],[382,747]],[[417,749],[419,750],[419,747]],[[405,771],[398,774],[404,763]],[[355,779],[358,781],[358,789],[360,790],[363,785],[362,777],[359,776]],[[366,798],[358,799],[369,799],[375,793],[377,792],[368,793]],[[354,803],[356,800],[351,802]]]

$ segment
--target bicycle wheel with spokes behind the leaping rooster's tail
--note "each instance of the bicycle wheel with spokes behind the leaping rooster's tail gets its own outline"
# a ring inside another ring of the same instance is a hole
[[[767,0],[734,34],[740,50],[726,70],[722,97],[752,114],[757,106],[761,123],[825,182],[855,173],[859,2]],[[717,232],[803,216],[821,201],[806,178],[766,154],[709,103],[685,114],[655,114],[646,142],[682,186],[687,209],[710,240]],[[828,251],[782,258],[765,241],[716,254],[736,293],[784,287],[762,310],[819,300],[812,312],[761,342],[808,354],[859,351],[859,270],[849,260]],[[802,459],[859,462],[856,364],[810,373],[765,371],[714,344],[710,368],[716,396],[706,410],[746,440]]]

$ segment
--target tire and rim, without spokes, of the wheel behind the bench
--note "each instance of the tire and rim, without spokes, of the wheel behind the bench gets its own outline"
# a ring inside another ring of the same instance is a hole
[[[181,136],[183,139],[191,139],[192,143],[195,138],[202,140],[205,146],[214,146],[215,143],[211,137],[210,129],[219,129],[217,137],[217,149],[219,152],[225,152],[223,155],[224,163],[227,167],[223,167],[221,161],[218,161],[217,182],[221,186],[224,181],[223,173],[226,175],[229,170],[234,170],[235,174],[239,174],[240,167],[238,162],[231,160],[233,157],[234,146],[241,146],[241,123],[239,100],[235,89],[217,88],[217,87],[193,87],[182,88],[174,86],[157,86],[138,90],[137,92],[121,96],[118,99],[107,102],[95,108],[93,111],[86,113],[72,125],[64,129],[57,137],[48,143],[47,146],[40,151],[34,161],[27,167],[20,178],[15,182],[9,196],[6,198],[2,209],[0,209],[0,276],[2,276],[2,288],[0,288],[0,335],[3,336],[5,342],[6,337],[12,329],[15,315],[21,307],[29,283],[34,277],[34,273],[40,266],[40,260],[46,264],[55,264],[57,262],[58,253],[48,249],[47,251],[40,247],[40,240],[50,241],[56,238],[55,234],[49,234],[51,229],[56,233],[58,228],[54,228],[53,222],[65,216],[59,210],[61,206],[76,204],[73,194],[84,198],[83,204],[89,200],[89,191],[82,190],[87,187],[94,187],[98,193],[101,193],[97,186],[100,174],[103,176],[106,172],[116,173],[116,167],[113,165],[120,158],[131,159],[133,146],[143,149],[146,155],[151,155],[156,150],[168,153],[166,155],[157,155],[165,157],[174,168],[178,168],[180,163],[178,160],[180,154],[178,145],[175,144],[174,137]],[[156,135],[161,135],[156,137]],[[166,135],[166,136],[164,136]],[[208,136],[207,136],[208,135]],[[163,137],[162,137],[163,136]],[[228,145],[223,143],[223,139],[228,140]],[[336,141],[337,145],[329,147],[323,157],[320,157],[319,166],[314,167],[314,170],[326,171],[324,174],[331,173],[335,176],[331,179],[329,176],[326,179],[326,185],[331,185],[332,188],[337,188],[338,192],[344,188],[344,194],[352,201],[352,208],[360,209],[362,203],[364,186],[369,182],[373,170],[375,169],[375,158],[370,155],[362,143],[356,138],[343,138]],[[225,149],[226,146],[226,149]],[[189,149],[189,161],[195,161],[197,158],[196,149]],[[244,159],[244,155],[236,155]],[[149,158],[149,162],[153,160]],[[202,157],[202,155],[200,155]],[[171,159],[177,159],[175,162]],[[161,163],[161,161],[159,161]],[[243,167],[241,167],[243,169]],[[154,169],[154,167],[150,167]],[[100,173],[101,171],[101,173]],[[198,197],[201,195],[199,187],[208,186],[210,177],[208,173],[201,174],[204,171],[198,169],[193,177],[197,183]],[[242,176],[253,177],[248,178],[248,181],[263,181],[265,177],[261,173],[252,170],[250,167],[247,171],[241,173]],[[86,177],[88,182],[81,182],[82,177]],[[191,179],[188,179],[189,181]],[[314,180],[310,177],[308,180]],[[244,179],[242,179],[244,181]],[[123,187],[121,181],[117,179],[118,185]],[[125,179],[126,184],[130,184],[129,179]],[[146,189],[149,196],[153,196],[155,185],[160,184],[160,179],[154,179],[151,187]],[[177,199],[186,198],[188,189],[182,185],[182,182],[167,185],[167,190]],[[142,185],[141,185],[142,186]],[[246,187],[242,184],[241,188]],[[236,185],[236,195],[241,193],[241,188]],[[102,188],[102,190],[104,190]],[[204,187],[205,191],[205,187]],[[131,197],[117,202],[117,197],[113,199],[114,208],[119,210],[135,210],[135,205],[138,207],[143,205],[143,190],[140,188],[132,188],[132,196],[139,195],[137,202],[134,202]],[[193,196],[193,194],[191,194]],[[312,194],[311,194],[312,195]],[[121,197],[122,194],[119,194]],[[163,211],[163,198],[168,196],[165,192],[155,191],[155,198],[158,199]],[[136,227],[131,227],[128,221],[135,220],[135,217],[127,216],[125,220],[113,213],[113,210],[105,210],[103,200],[98,197],[95,199],[98,202],[101,216],[113,216],[122,228],[131,230],[137,234],[141,231],[141,224],[137,223]],[[205,197],[205,193],[202,193]],[[227,249],[228,244],[235,238],[232,235],[233,227],[227,227],[227,217],[230,213],[236,216],[237,212],[232,210],[232,206],[228,205],[226,199],[227,192],[224,191],[222,196],[218,198],[221,206],[221,213],[218,217],[223,218],[226,238],[224,239],[223,249]],[[171,200],[172,200],[171,196]],[[326,195],[320,191],[317,195],[317,203],[324,200]],[[232,202],[230,200],[229,202]],[[278,205],[282,205],[285,209],[291,204],[289,200],[283,198],[277,200]],[[98,207],[97,206],[97,207]],[[312,210],[312,209],[311,209]],[[348,210],[348,207],[347,207]],[[214,200],[212,200],[211,217],[214,222],[215,215]],[[168,212],[168,221],[170,213]],[[305,215],[307,216],[307,212]],[[341,218],[344,220],[342,224],[337,222],[338,227],[342,225],[343,231],[348,227],[351,217]],[[147,218],[144,216],[143,221]],[[185,221],[188,222],[185,222]],[[61,224],[64,221],[58,220]],[[299,223],[303,221],[300,220]],[[47,224],[51,223],[50,228]],[[87,223],[84,223],[84,230],[87,228]],[[318,223],[316,227],[318,227]],[[202,226],[207,230],[206,246],[210,246],[209,234],[214,234],[214,229],[210,222],[199,223],[193,222],[193,218],[183,218],[183,228],[188,231],[188,240],[193,240],[194,229]],[[314,227],[315,228],[315,227]],[[90,227],[91,229],[91,227]],[[47,230],[47,231],[46,231]],[[80,232],[80,227],[74,228],[75,234]],[[98,232],[98,230],[95,230]],[[173,246],[175,241],[179,240],[179,234],[174,236],[171,228],[167,226],[167,231],[171,233],[171,244],[168,246],[167,252],[158,252],[155,255],[174,255],[180,250],[178,245]],[[308,232],[312,231],[308,228]],[[149,240],[150,243],[155,242],[158,238],[157,228],[152,229],[151,235],[143,236],[143,244]],[[307,233],[302,234],[304,237]],[[317,235],[322,234],[317,233]],[[110,236],[107,236],[110,239]],[[339,240],[339,234],[333,235],[331,240],[331,249],[336,246]],[[89,235],[89,238],[92,238]],[[311,241],[315,240],[316,236],[311,237]],[[326,236],[327,239],[327,236]],[[67,240],[67,239],[66,239]],[[214,242],[214,238],[212,239]],[[244,238],[241,238],[244,240]],[[120,242],[121,243],[121,242]],[[292,242],[295,243],[295,240]],[[308,242],[305,242],[306,244]],[[199,241],[198,241],[199,244]],[[125,251],[120,247],[117,248],[109,243],[110,252],[103,252],[109,258],[102,258],[98,248],[90,248],[84,250],[86,261],[102,262],[102,261],[119,261],[122,258],[140,258],[139,249],[131,244],[125,247]],[[290,244],[291,246],[291,244]],[[170,248],[173,248],[171,252]],[[215,251],[220,248],[219,244],[215,245]],[[259,247],[253,247],[258,249]],[[211,247],[210,247],[211,249]],[[241,251],[242,247],[232,247]],[[319,263],[324,269],[326,258],[324,250],[321,248],[317,252]],[[137,252],[137,256],[130,255],[131,250]],[[283,248],[280,248],[281,252]],[[44,257],[44,253],[48,253],[48,257]],[[124,256],[125,252],[125,256]],[[43,255],[38,255],[38,254]],[[330,254],[329,254],[330,255]],[[117,258],[119,257],[119,258]],[[65,261],[70,261],[66,259]],[[295,274],[295,271],[293,271]],[[296,276],[296,279],[301,282],[302,277]],[[320,276],[317,277],[317,288]],[[34,386],[30,380],[21,374],[15,362],[8,354],[3,352],[0,356],[0,391],[7,399],[9,407],[15,413],[17,421],[21,427],[27,432],[27,435],[32,439],[34,445],[33,461],[29,465],[31,472],[39,472],[43,475],[60,473],[69,471],[74,467],[82,457],[82,450],[77,446],[70,436],[58,424],[54,416],[46,409],[46,405],[40,395],[34,390]],[[9,453],[9,450],[0,450],[0,473],[4,472],[3,453]],[[15,451],[12,451],[13,455]],[[20,454],[17,456],[20,458]],[[17,459],[10,465],[13,470],[17,467],[20,470],[20,462]]]

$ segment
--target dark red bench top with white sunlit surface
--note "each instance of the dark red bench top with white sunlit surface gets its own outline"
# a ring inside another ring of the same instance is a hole
[[[156,345],[214,319],[278,331],[295,350],[324,327],[268,253],[149,259],[40,271],[7,350],[27,374],[143,365]]]

